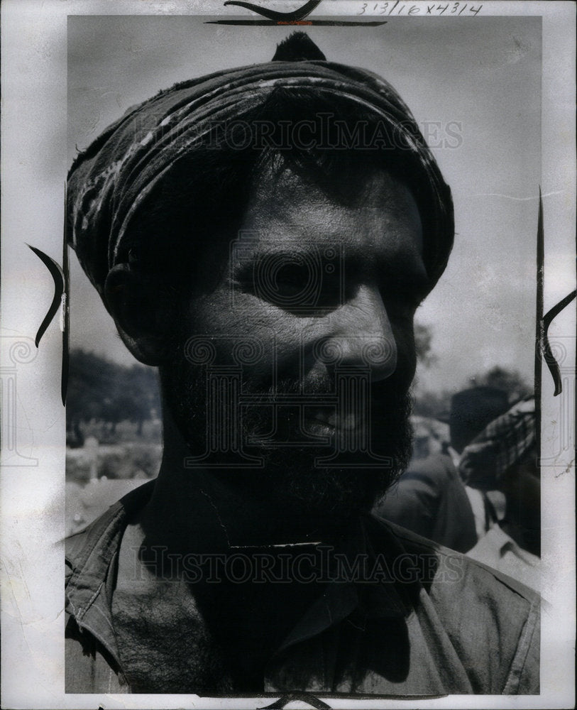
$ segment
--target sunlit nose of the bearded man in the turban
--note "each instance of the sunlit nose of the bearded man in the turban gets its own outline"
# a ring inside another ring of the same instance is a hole
[[[321,356],[324,351],[334,366],[368,367],[373,382],[395,372],[397,343],[377,287],[361,286],[331,317]]]

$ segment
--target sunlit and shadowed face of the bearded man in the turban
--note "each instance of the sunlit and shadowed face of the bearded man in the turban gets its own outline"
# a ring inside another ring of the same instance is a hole
[[[428,290],[412,195],[388,173],[363,178],[338,202],[288,168],[258,179],[230,248],[215,240],[163,373],[200,466],[336,518],[370,508],[407,463]]]

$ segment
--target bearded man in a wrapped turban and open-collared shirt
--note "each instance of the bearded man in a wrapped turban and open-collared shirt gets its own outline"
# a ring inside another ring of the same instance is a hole
[[[158,366],[158,478],[67,545],[67,692],[535,693],[539,600],[370,510],[454,238],[409,109],[307,35],[75,160],[70,243]]]

